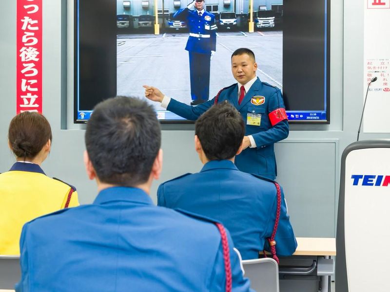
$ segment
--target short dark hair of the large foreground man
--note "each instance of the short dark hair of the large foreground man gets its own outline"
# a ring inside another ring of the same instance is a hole
[[[88,121],[85,146],[102,183],[145,183],[161,146],[156,111],[146,101],[132,97],[100,102]]]

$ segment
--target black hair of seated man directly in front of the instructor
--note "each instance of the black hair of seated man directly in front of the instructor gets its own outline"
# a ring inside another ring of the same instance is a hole
[[[244,138],[244,120],[230,103],[222,102],[196,120],[195,135],[209,160],[231,159]]]

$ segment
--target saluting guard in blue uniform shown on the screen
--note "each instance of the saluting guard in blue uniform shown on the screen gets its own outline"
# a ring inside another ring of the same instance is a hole
[[[190,30],[185,49],[190,57],[191,105],[209,99],[210,58],[215,53],[215,17],[203,6],[204,0],[194,0],[174,14],[174,19],[186,21]]]

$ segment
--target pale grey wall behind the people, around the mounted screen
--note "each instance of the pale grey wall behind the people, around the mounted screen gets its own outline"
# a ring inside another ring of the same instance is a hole
[[[88,180],[83,168],[84,131],[81,126],[72,125],[73,16],[66,13],[73,11],[73,1],[69,2],[43,1],[43,111],[52,125],[54,137],[52,152],[43,168],[49,176],[76,185],[80,202],[89,203],[94,200],[97,188]],[[7,148],[7,128],[16,109],[15,1],[4,1],[0,16],[0,26],[5,28],[0,38],[3,64],[0,68],[3,92],[0,99],[0,172],[4,172],[14,162]],[[331,124],[293,125],[289,138],[276,145],[278,181],[285,190],[297,236],[335,236],[340,157],[343,149],[356,139],[363,107],[362,31],[362,1],[333,0]],[[389,136],[362,133],[361,139]],[[193,130],[163,131],[164,169],[161,179],[152,188],[154,200],[159,183],[201,168],[193,139]]]

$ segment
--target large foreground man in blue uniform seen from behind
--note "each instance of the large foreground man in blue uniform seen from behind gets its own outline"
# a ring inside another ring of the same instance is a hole
[[[96,106],[84,162],[98,196],[24,225],[17,291],[250,290],[221,224],[150,199],[162,166],[160,138],[145,101],[117,97]]]

